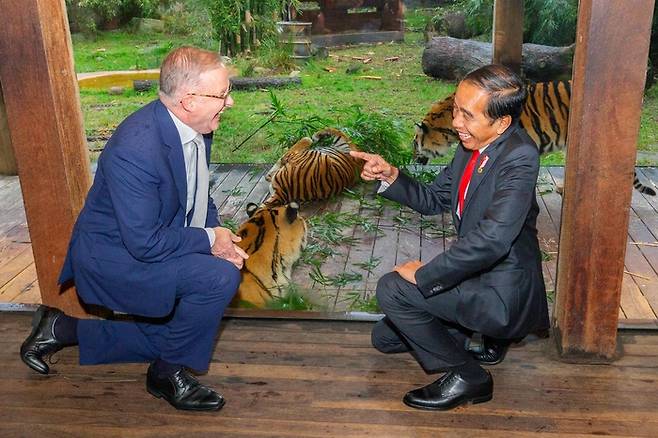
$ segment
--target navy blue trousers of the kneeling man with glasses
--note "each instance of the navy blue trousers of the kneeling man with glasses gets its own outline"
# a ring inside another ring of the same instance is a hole
[[[183,256],[172,267],[177,270],[172,313],[161,319],[80,320],[80,364],[162,359],[197,371],[208,369],[219,322],[237,292],[240,271],[204,254]]]

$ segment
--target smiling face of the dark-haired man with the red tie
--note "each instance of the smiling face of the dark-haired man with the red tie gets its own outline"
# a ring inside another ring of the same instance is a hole
[[[491,120],[486,115],[489,94],[470,82],[461,82],[455,93],[452,126],[466,149],[476,150],[490,144],[505,132],[510,116]]]

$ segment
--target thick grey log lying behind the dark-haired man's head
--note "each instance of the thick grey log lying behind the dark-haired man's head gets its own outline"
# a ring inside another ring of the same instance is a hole
[[[536,82],[571,79],[574,46],[552,47],[524,44],[522,71]],[[491,63],[491,43],[434,37],[423,51],[423,72],[437,79],[460,80],[466,73]]]

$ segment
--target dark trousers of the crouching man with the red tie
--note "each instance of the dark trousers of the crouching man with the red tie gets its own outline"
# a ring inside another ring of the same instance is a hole
[[[473,362],[466,351],[471,333],[455,320],[458,290],[425,298],[397,272],[377,283],[377,301],[386,317],[372,331],[373,346],[383,353],[410,351],[428,372]]]

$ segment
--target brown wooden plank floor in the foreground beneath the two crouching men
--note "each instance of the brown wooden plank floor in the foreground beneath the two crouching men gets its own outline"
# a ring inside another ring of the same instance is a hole
[[[227,404],[184,413],[144,390],[143,364],[80,367],[68,348],[57,374],[37,375],[18,355],[30,318],[0,313],[2,437],[658,436],[655,332],[621,332],[611,365],[562,363],[552,340],[526,340],[489,368],[491,402],[428,412],[401,398],[438,376],[370,347],[372,323],[228,319],[199,378]]]

